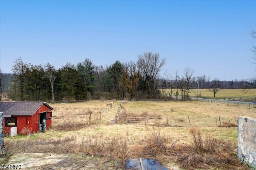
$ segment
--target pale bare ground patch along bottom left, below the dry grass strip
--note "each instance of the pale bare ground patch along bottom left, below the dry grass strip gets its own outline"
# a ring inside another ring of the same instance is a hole
[[[20,165],[21,169],[26,170],[113,170],[118,163],[98,156],[18,153],[10,156],[7,164]]]

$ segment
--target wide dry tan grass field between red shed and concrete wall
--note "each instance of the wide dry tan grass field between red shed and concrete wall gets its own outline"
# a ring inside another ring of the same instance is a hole
[[[54,108],[52,129],[5,137],[6,153],[94,155],[108,160],[107,169],[123,169],[126,158],[140,157],[156,158],[169,169],[248,169],[236,159],[236,122],[238,116],[255,118],[256,107],[198,101],[124,101],[119,117],[148,120],[112,124],[120,101],[50,105]],[[106,169],[100,168],[104,164],[106,161],[98,162],[95,169]]]

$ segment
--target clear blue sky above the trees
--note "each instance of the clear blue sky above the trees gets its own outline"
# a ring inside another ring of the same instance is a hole
[[[0,67],[16,58],[56,68],[166,59],[161,74],[241,80],[256,75],[256,1],[0,1]]]

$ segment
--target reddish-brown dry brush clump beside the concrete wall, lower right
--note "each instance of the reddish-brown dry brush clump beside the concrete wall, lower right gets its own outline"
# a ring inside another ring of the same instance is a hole
[[[189,129],[192,145],[180,144],[170,150],[175,155],[176,162],[181,168],[208,169],[210,167],[222,169],[249,169],[236,157],[236,147],[228,140],[215,139],[211,136],[202,138],[199,128]]]

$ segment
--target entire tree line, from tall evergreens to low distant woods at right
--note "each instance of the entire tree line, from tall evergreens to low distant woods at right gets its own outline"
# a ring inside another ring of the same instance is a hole
[[[214,97],[220,88],[245,88],[246,81],[220,81],[185,68],[183,74],[160,71],[165,64],[159,53],[138,55],[138,61],[115,61],[96,66],[90,59],[56,69],[52,64],[33,65],[21,57],[15,59],[12,74],[0,72],[2,96],[18,101],[59,101],[87,99],[187,99],[190,89],[210,89]]]

